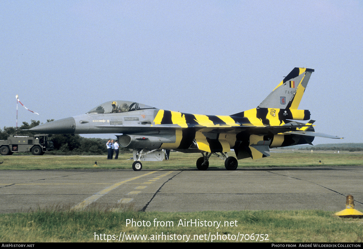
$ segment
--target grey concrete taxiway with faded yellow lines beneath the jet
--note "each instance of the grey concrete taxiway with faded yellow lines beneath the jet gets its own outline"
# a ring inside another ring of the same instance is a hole
[[[2,170],[0,213],[71,206],[136,210],[363,209],[362,166],[187,170]]]

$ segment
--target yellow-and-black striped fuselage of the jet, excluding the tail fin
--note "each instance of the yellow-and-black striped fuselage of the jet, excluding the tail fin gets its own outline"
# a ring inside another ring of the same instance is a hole
[[[233,148],[237,159],[256,159],[269,156],[269,148],[305,143],[305,138],[301,140],[299,136],[273,134],[267,129],[285,125],[290,122],[287,119],[307,120],[310,119],[310,112],[255,108],[232,116],[215,116],[159,110],[151,126],[175,129],[175,143],[164,143],[160,149],[229,152]]]

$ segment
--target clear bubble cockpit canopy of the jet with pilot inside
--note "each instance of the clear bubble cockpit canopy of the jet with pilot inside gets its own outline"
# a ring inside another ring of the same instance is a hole
[[[155,107],[150,107],[148,105],[139,104],[131,101],[108,101],[97,107],[91,109],[87,113],[121,113],[121,112],[132,112],[143,109],[155,109]]]

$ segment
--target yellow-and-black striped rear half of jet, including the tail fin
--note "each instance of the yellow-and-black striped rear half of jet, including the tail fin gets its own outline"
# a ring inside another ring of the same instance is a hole
[[[288,134],[288,131],[314,131],[308,110],[298,110],[314,69],[294,68],[257,108],[230,116],[196,115],[159,110],[152,122],[156,129],[173,128],[175,143],[160,148],[183,152],[228,152],[237,159],[269,156],[269,148],[311,144],[313,136]],[[286,133],[285,133],[286,132]]]

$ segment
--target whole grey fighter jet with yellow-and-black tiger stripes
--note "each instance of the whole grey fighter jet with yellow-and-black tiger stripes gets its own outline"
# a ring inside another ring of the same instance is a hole
[[[119,145],[133,149],[135,171],[142,161],[162,161],[163,149],[201,153],[196,166],[206,170],[209,157],[224,160],[227,170],[238,161],[270,156],[270,148],[311,144],[314,137],[340,138],[314,131],[309,110],[299,110],[314,69],[294,68],[257,108],[230,116],[198,115],[157,109],[131,101],[108,101],[86,114],[38,125],[50,134],[115,133]],[[228,153],[234,150],[236,157]]]

